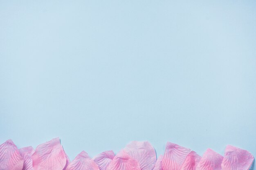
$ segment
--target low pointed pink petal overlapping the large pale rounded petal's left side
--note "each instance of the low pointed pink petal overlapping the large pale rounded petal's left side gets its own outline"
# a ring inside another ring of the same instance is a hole
[[[138,161],[121,150],[110,162],[107,170],[141,170]]]

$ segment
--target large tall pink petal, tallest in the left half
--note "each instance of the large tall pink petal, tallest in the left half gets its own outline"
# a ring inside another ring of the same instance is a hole
[[[63,170],[67,162],[58,137],[38,145],[32,160],[34,170]]]

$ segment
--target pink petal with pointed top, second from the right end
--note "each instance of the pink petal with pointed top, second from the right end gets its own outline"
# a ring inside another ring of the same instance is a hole
[[[200,159],[196,170],[222,170],[222,159],[222,155],[216,153],[214,150],[207,149]]]

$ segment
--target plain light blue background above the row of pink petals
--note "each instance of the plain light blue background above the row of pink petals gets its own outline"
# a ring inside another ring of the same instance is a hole
[[[256,155],[256,1],[0,1],[0,143]]]

